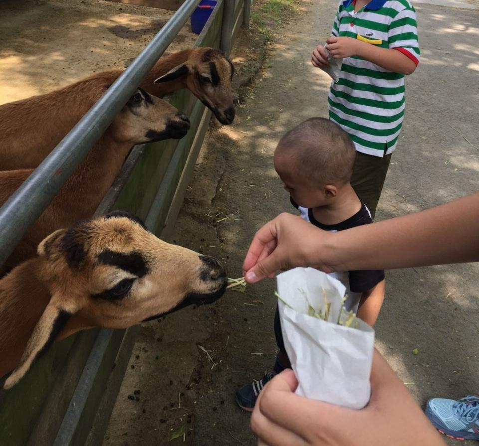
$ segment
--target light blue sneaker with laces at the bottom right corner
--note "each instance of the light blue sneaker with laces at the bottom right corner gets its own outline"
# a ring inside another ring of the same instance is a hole
[[[433,398],[426,405],[426,416],[449,438],[479,440],[479,397],[470,395],[458,401]]]

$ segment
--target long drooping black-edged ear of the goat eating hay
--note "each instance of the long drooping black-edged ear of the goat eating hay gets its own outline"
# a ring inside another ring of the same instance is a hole
[[[59,303],[59,299],[54,296],[50,299],[50,303],[46,306],[31,333],[30,339],[28,339],[20,363],[5,380],[4,389],[10,389],[25,375],[35,360],[50,346],[68,322],[74,311],[63,308]]]

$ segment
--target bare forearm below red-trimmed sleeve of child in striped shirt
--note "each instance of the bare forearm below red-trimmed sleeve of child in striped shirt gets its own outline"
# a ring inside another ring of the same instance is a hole
[[[335,59],[359,56],[394,73],[411,74],[416,62],[396,49],[381,48],[353,37],[328,37],[329,54]],[[316,48],[317,49],[317,48]],[[314,54],[314,53],[313,53]],[[314,65],[314,64],[313,64]],[[321,68],[319,66],[319,68]]]

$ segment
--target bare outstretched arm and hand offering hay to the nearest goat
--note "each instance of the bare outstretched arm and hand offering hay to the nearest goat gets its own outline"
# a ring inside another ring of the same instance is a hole
[[[249,283],[277,270],[375,270],[479,260],[479,193],[404,217],[325,232],[280,214],[254,236],[243,264]]]

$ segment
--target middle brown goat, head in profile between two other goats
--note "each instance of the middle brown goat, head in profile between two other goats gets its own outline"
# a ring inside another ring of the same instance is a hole
[[[189,128],[190,121],[176,108],[142,89],[137,90],[27,231],[5,262],[5,267],[14,267],[34,256],[38,243],[53,230],[90,218],[120,172],[133,145],[182,138]],[[0,205],[32,171],[33,169],[0,171]]]

